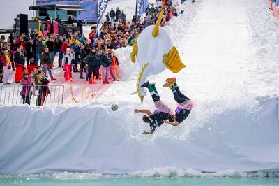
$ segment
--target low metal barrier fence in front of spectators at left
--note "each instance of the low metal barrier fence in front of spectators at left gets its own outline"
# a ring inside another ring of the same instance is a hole
[[[63,96],[64,85],[0,85],[0,106],[61,105]]]

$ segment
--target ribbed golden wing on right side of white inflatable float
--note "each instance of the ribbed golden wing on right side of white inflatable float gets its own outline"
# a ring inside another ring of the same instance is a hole
[[[176,50],[176,48],[173,46],[171,50],[167,53],[167,55],[164,55],[163,57],[163,63],[173,73],[178,73],[186,67],[183,62],[181,62],[181,59],[179,57],[179,52]]]

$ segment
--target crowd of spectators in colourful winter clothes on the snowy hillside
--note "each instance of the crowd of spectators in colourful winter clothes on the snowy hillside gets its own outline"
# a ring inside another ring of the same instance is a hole
[[[131,20],[127,20],[123,10],[116,8],[115,12],[112,8],[98,33],[97,27],[92,26],[88,37],[81,31],[73,32],[71,29],[59,36],[48,33],[43,37],[36,30],[30,37],[24,33],[17,38],[14,34],[10,34],[7,39],[1,36],[0,83],[9,84],[12,74],[10,71],[15,71],[15,83],[43,85],[43,82],[48,83],[48,77],[52,81],[56,80],[52,75],[53,68],[61,68],[61,71],[63,68],[65,81],[73,78],[72,73],[80,73],[80,78],[85,78],[89,83],[96,83],[96,80],[101,79],[103,84],[108,84],[110,77],[118,80],[119,62],[113,50],[133,45],[137,34],[156,23],[162,9],[165,10],[161,22],[164,27],[172,16],[178,14],[171,3],[165,1],[165,5],[162,5],[161,1],[157,1],[156,5],[149,4],[143,19],[133,16]],[[54,65],[56,55],[58,66]],[[35,90],[38,96],[42,96],[40,87]],[[24,103],[29,103],[25,94],[23,99]],[[37,103],[41,104],[43,103]]]

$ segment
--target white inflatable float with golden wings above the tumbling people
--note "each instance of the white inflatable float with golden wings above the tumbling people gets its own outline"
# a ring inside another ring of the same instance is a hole
[[[161,11],[156,25],[146,27],[140,35],[135,38],[133,51],[130,54],[131,61],[136,61],[140,64],[141,72],[137,79],[137,94],[143,103],[144,96],[146,96],[143,87],[146,78],[150,75],[156,75],[163,72],[166,68],[173,73],[178,73],[183,69],[185,64],[181,62],[179,52],[172,46],[172,40],[167,34],[166,29],[160,27],[160,22],[163,17],[163,10]]]

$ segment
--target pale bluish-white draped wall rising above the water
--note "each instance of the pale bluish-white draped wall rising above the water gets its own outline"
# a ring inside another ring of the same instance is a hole
[[[116,112],[93,103],[1,107],[0,173],[133,173],[165,166],[279,171],[278,97],[259,101],[252,112],[223,110],[188,138],[166,132],[158,136],[167,124],[151,136],[141,135],[140,116],[127,105],[119,104]]]

